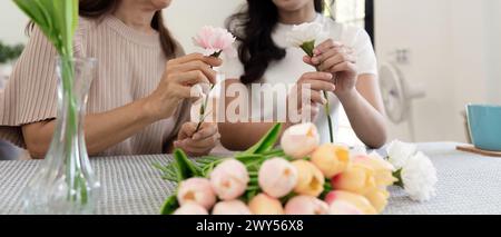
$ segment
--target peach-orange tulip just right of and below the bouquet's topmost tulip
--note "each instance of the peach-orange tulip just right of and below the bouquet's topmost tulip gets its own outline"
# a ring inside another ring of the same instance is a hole
[[[343,172],[348,167],[350,150],[343,146],[326,144],[318,147],[313,152],[312,162],[326,178],[332,178]]]

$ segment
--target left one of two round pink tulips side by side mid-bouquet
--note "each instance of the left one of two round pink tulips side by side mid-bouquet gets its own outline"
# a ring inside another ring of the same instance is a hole
[[[236,159],[227,159],[210,172],[210,184],[222,200],[238,198],[249,180],[247,168]]]

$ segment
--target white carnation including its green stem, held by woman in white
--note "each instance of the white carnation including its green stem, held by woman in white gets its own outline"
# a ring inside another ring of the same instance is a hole
[[[326,39],[326,33],[322,30],[322,24],[313,23],[302,23],[299,26],[294,26],[292,31],[287,33],[287,42],[292,47],[301,48],[308,57],[314,57],[313,50],[317,43],[321,43],[323,39]],[[318,69],[316,68],[318,71]],[[327,116],[328,122],[328,135],[331,138],[331,144],[334,144],[333,134],[333,121],[331,117],[331,105],[328,100],[328,93],[324,91],[324,98],[327,101],[324,106],[325,115]]]

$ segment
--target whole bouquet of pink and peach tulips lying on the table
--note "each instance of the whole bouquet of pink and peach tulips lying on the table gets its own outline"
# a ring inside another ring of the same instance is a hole
[[[177,215],[374,215],[384,210],[393,166],[376,154],[350,157],[347,147],[320,145],[315,125],[288,128],[274,149],[282,125],[246,151],[219,159],[157,165],[178,184],[161,214]]]

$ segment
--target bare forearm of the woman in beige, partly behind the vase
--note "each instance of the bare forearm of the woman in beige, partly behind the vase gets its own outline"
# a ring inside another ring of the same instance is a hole
[[[96,115],[87,115],[85,137],[89,155],[97,155],[155,122],[145,99]],[[43,158],[52,139],[56,120],[22,127],[24,141],[33,158]]]

